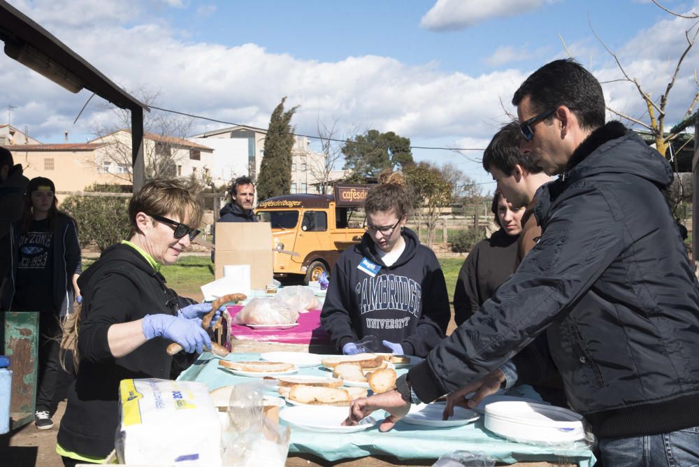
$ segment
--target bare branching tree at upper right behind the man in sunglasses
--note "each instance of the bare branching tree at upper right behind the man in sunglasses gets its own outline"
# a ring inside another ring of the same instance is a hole
[[[677,17],[684,17],[687,19],[696,19],[699,17],[698,13],[690,13],[688,15],[680,15],[679,13],[674,13],[667,8],[661,6],[657,1],[653,0],[653,3],[655,3],[658,7],[662,8],[663,10],[667,11],[671,15],[675,15]],[[672,90],[672,87],[675,86],[675,82],[677,81],[677,75],[679,74],[679,70],[682,68],[682,62],[684,62],[684,58],[686,55],[689,53],[689,50],[693,47],[694,43],[696,42],[696,39],[699,35],[699,24],[697,22],[694,22],[689,29],[684,31],[684,36],[686,38],[686,46],[684,48],[684,51],[682,52],[681,55],[679,55],[679,58],[677,59],[677,64],[675,66],[675,73],[672,73],[672,78],[670,78],[670,82],[668,82],[668,85],[665,87],[665,92],[661,94],[660,98],[658,99],[658,102],[656,102],[654,99],[651,98],[651,94],[647,92],[641,85],[641,83],[638,81],[637,78],[633,78],[629,76],[627,73],[626,69],[624,69],[624,66],[621,64],[621,60],[617,56],[616,53],[614,53],[607,45],[602,41],[600,36],[595,32],[595,30],[592,27],[591,22],[588,22],[590,24],[590,29],[592,30],[592,34],[597,38],[597,40],[602,44],[602,46],[609,52],[610,55],[614,58],[614,61],[617,63],[617,67],[621,71],[622,76],[624,78],[621,78],[619,80],[614,80],[614,81],[628,81],[633,83],[635,85],[638,94],[640,94],[641,99],[643,99],[645,106],[647,108],[647,113],[648,113],[648,118],[649,122],[643,122],[642,120],[638,118],[631,117],[630,115],[626,115],[624,113],[619,112],[618,110],[614,110],[613,108],[610,108],[607,106],[607,110],[610,112],[619,115],[619,117],[622,117],[630,122],[634,122],[635,124],[639,124],[641,127],[644,127],[645,129],[649,130],[651,134],[654,135],[655,137],[655,142],[656,142],[656,149],[658,152],[660,152],[662,155],[665,155],[665,152],[668,150],[668,145],[672,140],[677,138],[679,135],[680,131],[676,133],[670,132],[670,134],[665,135],[665,117],[666,117],[666,112],[665,109],[668,106],[668,98],[670,96],[670,91]],[[562,40],[562,39],[561,39]],[[684,118],[689,117],[693,113],[693,108],[696,105],[696,103],[699,101],[699,81],[697,80],[697,74],[696,71],[694,73],[694,82],[697,85],[698,91],[694,95],[694,98],[692,99],[691,103],[689,103],[689,107],[686,110],[686,113],[684,113]]]

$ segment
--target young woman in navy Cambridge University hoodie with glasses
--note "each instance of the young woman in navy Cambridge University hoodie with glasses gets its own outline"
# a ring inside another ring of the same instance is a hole
[[[449,298],[437,257],[405,227],[410,211],[403,178],[382,174],[369,190],[366,234],[333,266],[321,323],[339,351],[426,357],[444,337]],[[358,342],[374,336],[380,347]]]

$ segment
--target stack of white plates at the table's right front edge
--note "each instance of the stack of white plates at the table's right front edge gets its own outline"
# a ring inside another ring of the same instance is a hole
[[[523,401],[485,407],[485,427],[519,443],[560,445],[585,438],[582,415],[572,410]]]

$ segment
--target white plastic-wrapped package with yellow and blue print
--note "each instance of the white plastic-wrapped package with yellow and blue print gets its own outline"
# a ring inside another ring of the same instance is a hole
[[[122,380],[115,446],[122,464],[220,466],[221,424],[200,382]]]

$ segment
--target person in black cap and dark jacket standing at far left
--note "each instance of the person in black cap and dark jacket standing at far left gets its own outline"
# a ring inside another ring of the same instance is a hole
[[[12,267],[2,286],[2,310],[38,311],[38,384],[34,424],[53,426],[59,380],[61,318],[73,311],[80,295],[80,245],[75,221],[57,208],[55,186],[43,177],[32,178],[24,194],[22,219],[10,228]]]

